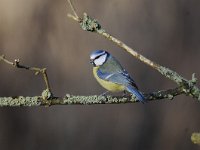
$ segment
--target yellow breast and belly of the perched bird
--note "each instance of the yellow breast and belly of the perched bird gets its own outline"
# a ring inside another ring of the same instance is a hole
[[[107,89],[108,91],[111,91],[111,92],[120,92],[120,91],[125,90],[125,87],[123,85],[109,82],[106,80],[102,80],[101,78],[99,78],[97,76],[97,69],[98,69],[98,67],[93,67],[93,74],[101,86],[103,86],[105,89]]]

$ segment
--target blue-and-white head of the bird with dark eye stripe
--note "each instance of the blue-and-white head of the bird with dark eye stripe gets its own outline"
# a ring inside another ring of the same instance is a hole
[[[93,64],[93,66],[101,66],[109,57],[109,53],[104,50],[95,50],[90,54],[90,63]]]

